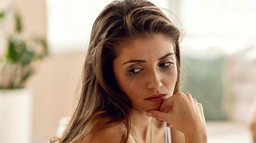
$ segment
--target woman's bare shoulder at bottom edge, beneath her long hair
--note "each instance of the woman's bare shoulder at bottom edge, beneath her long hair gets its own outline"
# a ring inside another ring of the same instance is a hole
[[[81,143],[121,143],[123,142],[125,127],[121,124],[111,125],[87,135]],[[127,143],[134,143],[129,137]]]

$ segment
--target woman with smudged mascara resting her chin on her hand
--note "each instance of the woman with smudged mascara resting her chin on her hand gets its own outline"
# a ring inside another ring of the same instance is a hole
[[[76,110],[50,142],[207,142],[202,105],[179,92],[180,35],[149,1],[107,5],[92,28]]]

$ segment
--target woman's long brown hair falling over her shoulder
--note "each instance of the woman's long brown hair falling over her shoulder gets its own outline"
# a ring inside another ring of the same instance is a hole
[[[122,123],[126,132],[121,142],[127,142],[131,130],[132,104],[117,87],[113,60],[120,47],[134,39],[155,34],[174,43],[180,83],[180,30],[153,3],[146,0],[115,0],[98,15],[93,25],[89,48],[83,67],[82,89],[77,107],[61,137],[51,143],[78,143],[97,130]]]

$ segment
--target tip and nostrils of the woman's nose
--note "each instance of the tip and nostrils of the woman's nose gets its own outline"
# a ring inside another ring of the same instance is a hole
[[[161,74],[158,73],[157,71],[152,71],[149,73],[148,78],[148,84],[147,87],[148,89],[158,89],[161,86],[163,86],[162,81],[161,81]]]

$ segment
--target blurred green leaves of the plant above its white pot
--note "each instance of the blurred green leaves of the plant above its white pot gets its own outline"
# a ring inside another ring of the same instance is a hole
[[[4,19],[9,11],[0,12],[0,20]],[[9,85],[2,86],[0,88],[22,88],[28,78],[34,74],[34,68],[32,62],[36,59],[43,59],[49,55],[49,49],[47,41],[44,38],[35,37],[35,44],[29,44],[26,40],[20,37],[22,32],[22,18],[20,14],[16,11],[14,12],[14,24],[15,32],[14,35],[7,39],[9,43],[7,47],[7,63],[9,65],[14,65],[15,69],[11,72],[11,78],[9,80]],[[4,27],[5,28],[5,27]],[[9,28],[9,27],[6,27]],[[5,75],[3,75],[5,78]]]

